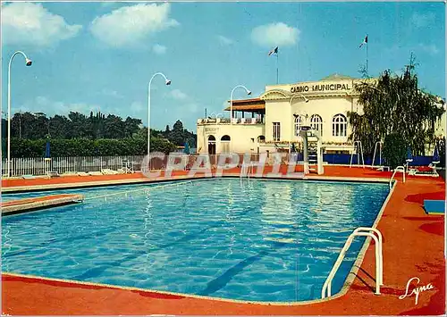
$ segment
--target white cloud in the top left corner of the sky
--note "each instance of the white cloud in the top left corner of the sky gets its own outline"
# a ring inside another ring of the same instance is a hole
[[[62,16],[50,13],[42,4],[16,2],[2,5],[4,44],[54,46],[76,36],[82,26],[68,24]]]

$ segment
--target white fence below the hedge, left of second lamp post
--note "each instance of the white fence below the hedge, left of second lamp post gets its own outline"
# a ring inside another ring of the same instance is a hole
[[[11,160],[11,176],[46,175],[47,171],[57,171],[59,174],[77,173],[80,171],[101,171],[111,169],[117,171],[122,168],[123,161],[131,161],[133,169],[139,171],[144,155],[129,156],[77,156],[52,157],[46,160],[43,157],[13,158]],[[2,175],[7,175],[7,160],[2,161]]]

